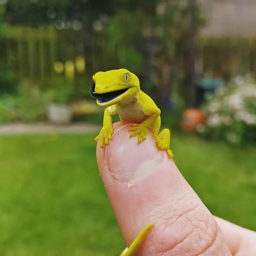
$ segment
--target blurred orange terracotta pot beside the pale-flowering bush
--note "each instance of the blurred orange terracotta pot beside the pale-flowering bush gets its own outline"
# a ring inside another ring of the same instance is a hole
[[[205,122],[205,113],[201,109],[185,109],[182,113],[180,127],[184,132],[193,132]]]

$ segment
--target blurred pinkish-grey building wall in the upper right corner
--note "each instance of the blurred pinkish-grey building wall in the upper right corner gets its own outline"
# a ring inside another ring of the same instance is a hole
[[[256,0],[197,0],[207,25],[205,37],[256,37]]]

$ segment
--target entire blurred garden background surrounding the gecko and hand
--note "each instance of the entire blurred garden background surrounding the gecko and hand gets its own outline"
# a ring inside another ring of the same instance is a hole
[[[89,94],[119,68],[160,107],[209,210],[256,230],[255,13],[253,0],[0,0],[0,256],[125,247]]]

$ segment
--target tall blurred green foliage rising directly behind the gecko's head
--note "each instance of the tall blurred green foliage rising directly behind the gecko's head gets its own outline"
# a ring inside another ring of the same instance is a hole
[[[197,10],[196,27],[201,25]],[[178,1],[135,3],[134,10],[123,9],[108,20],[104,29],[108,38],[106,50],[112,53],[116,50],[117,66],[136,73],[146,93],[154,90],[154,100],[159,105],[163,94],[171,95],[172,84],[183,83],[188,68],[184,53],[190,47],[190,29],[187,4]],[[166,67],[170,71],[163,75]]]

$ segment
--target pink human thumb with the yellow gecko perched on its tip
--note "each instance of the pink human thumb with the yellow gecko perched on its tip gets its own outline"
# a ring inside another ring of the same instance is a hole
[[[129,138],[130,126],[114,124],[109,146],[97,146],[100,174],[128,247],[154,223],[136,255],[230,256],[215,219],[174,161],[150,134],[141,144]]]

